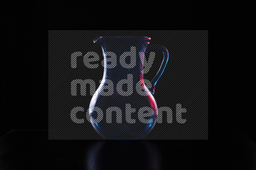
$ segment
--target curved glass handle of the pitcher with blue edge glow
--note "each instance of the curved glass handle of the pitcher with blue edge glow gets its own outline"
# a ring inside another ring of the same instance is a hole
[[[159,80],[159,78],[161,77],[161,75],[164,72],[164,68],[167,64],[168,58],[169,58],[169,54],[167,49],[164,46],[161,45],[152,45],[149,46],[150,49],[156,49],[156,50],[161,50],[162,53],[164,54],[164,60],[161,64],[160,69],[158,70],[158,72],[156,73],[155,77],[153,78],[153,80],[151,81],[152,83],[152,87],[149,89],[151,91],[151,93],[154,95],[155,93],[155,87],[156,87],[156,82]]]

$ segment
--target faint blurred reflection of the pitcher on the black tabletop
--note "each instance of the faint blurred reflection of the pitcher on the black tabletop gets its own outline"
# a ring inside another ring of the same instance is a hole
[[[148,141],[99,141],[86,156],[87,169],[161,169],[160,153]]]

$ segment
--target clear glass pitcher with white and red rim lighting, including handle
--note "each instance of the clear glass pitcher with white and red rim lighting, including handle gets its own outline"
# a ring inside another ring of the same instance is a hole
[[[148,45],[148,37],[106,36],[94,39],[101,46],[103,78],[92,96],[87,119],[105,139],[143,139],[155,126],[157,105],[153,97],[156,82],[168,61],[168,51]],[[164,60],[151,83],[143,80],[146,48],[161,50]]]

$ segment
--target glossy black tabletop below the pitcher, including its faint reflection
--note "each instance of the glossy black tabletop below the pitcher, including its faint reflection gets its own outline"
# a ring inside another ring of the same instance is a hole
[[[47,131],[10,131],[0,138],[0,170],[256,169],[255,143],[241,131],[225,136],[210,144],[202,140],[48,140]]]

